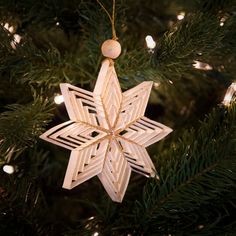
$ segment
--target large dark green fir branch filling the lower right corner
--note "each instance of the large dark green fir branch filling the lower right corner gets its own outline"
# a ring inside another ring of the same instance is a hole
[[[182,227],[186,224],[184,219],[181,223],[184,214],[189,227],[193,228],[201,222],[199,212],[212,223],[217,220],[209,218],[211,212],[204,209],[206,206],[221,202],[215,209],[219,214],[222,205],[228,210],[232,207],[230,202],[235,200],[236,192],[235,112],[235,105],[225,114],[222,109],[213,112],[197,131],[185,134],[178,146],[168,152],[169,160],[165,165],[159,163],[162,166],[160,183],[147,185],[143,201],[136,205],[136,219],[140,219],[141,227],[145,229],[149,222],[153,224],[153,232],[172,233],[175,226],[164,226],[163,220],[178,219],[181,228],[181,224]],[[218,220],[223,220],[223,216]]]

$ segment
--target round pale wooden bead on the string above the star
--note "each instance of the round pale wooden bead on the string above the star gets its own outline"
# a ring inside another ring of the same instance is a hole
[[[102,44],[102,55],[111,59],[116,59],[121,53],[121,45],[118,41],[108,39]]]

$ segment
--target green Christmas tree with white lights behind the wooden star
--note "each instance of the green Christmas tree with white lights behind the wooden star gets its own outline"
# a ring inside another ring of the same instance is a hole
[[[153,81],[145,116],[173,132],[122,203],[61,187],[70,152],[39,136],[69,120],[61,83],[93,91],[113,2],[0,1],[0,235],[235,235],[234,0],[116,1],[121,88]]]

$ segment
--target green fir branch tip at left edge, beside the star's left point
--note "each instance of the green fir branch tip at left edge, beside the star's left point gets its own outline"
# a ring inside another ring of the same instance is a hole
[[[0,116],[1,155],[17,152],[35,144],[52,118],[47,100],[35,98],[27,105],[12,104]]]

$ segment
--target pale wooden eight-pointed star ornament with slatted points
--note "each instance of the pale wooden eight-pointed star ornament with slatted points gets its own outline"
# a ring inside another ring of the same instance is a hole
[[[111,53],[113,58],[119,55]],[[144,116],[152,82],[122,93],[114,63],[105,59],[93,93],[70,84],[60,87],[70,121],[41,138],[71,150],[63,188],[72,189],[97,175],[112,200],[121,202],[131,170],[156,176],[145,147],[172,130]]]

